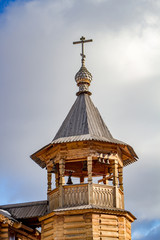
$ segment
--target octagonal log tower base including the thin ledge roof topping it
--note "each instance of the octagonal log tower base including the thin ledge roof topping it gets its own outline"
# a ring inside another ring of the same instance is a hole
[[[136,218],[121,209],[56,209],[40,218],[42,240],[131,240]]]

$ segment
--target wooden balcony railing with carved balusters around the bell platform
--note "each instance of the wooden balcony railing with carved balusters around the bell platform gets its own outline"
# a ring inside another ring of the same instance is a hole
[[[64,185],[48,193],[50,210],[84,205],[124,208],[123,192],[101,184]]]

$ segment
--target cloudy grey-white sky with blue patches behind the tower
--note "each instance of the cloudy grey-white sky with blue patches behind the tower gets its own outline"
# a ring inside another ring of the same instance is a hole
[[[0,0],[0,205],[46,199],[30,155],[76,99],[84,35],[92,101],[138,162],[124,169],[133,240],[160,239],[160,0]]]

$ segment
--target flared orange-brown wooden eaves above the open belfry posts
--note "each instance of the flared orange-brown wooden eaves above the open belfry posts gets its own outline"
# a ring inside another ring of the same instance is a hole
[[[81,151],[78,152],[78,149],[81,149]],[[119,158],[119,164],[121,166],[122,162],[124,163],[123,165],[126,166],[137,161],[138,156],[134,152],[133,148],[129,145],[101,142],[95,140],[75,141],[66,143],[50,143],[32,154],[30,157],[40,167],[45,168],[50,164],[50,159],[54,159],[56,163],[61,158],[68,160],[84,159],[90,154],[95,157],[97,153],[105,154],[106,151],[114,152],[117,151],[117,149],[119,149],[118,151],[121,152],[121,158]]]

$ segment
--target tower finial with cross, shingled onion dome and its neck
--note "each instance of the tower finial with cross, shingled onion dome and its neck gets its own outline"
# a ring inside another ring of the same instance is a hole
[[[75,75],[75,81],[77,82],[77,86],[79,87],[79,92],[77,92],[77,96],[81,93],[87,93],[88,95],[91,95],[91,92],[89,92],[88,88],[90,86],[90,83],[92,81],[92,74],[87,70],[85,67],[85,55],[84,55],[84,43],[92,42],[92,39],[85,40],[85,37],[81,37],[80,41],[73,42],[73,44],[82,44],[82,53],[80,54],[82,57],[82,66],[80,70]]]

